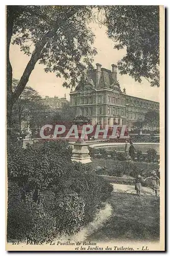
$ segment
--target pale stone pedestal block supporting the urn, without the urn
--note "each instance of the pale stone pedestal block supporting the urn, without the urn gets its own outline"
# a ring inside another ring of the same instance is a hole
[[[72,150],[71,161],[81,162],[81,163],[90,163],[91,158],[89,156],[88,143],[84,140],[79,139],[75,144]]]

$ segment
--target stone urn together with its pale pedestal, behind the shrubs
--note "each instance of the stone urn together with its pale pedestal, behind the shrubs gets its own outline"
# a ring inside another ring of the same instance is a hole
[[[72,150],[72,157],[71,161],[81,162],[81,163],[90,163],[91,158],[89,156],[89,150],[88,150],[88,143],[86,142],[88,140],[87,135],[85,135],[85,138],[81,138],[83,125],[87,124],[88,120],[83,119],[76,119],[74,120],[74,124],[78,125],[78,134],[79,138],[74,144],[74,148]]]

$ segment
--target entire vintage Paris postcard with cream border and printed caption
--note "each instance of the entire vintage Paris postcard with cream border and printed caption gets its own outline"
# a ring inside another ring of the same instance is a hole
[[[164,251],[164,7],[6,6],[6,250]]]

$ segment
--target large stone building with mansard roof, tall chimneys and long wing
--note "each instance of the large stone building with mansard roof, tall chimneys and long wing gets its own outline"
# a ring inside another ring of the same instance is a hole
[[[117,81],[117,66],[112,71],[97,63],[96,69],[85,70],[75,91],[70,92],[70,107],[76,115],[85,115],[92,125],[126,124],[131,128],[135,122],[144,121],[149,110],[159,111],[159,102],[126,94]]]

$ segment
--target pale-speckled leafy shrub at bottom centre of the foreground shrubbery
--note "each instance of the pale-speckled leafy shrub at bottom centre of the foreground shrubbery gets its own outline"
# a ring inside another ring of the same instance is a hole
[[[74,233],[84,224],[85,203],[83,199],[71,190],[65,190],[65,193],[55,195],[53,189],[45,193],[44,208],[51,212],[58,234]]]

